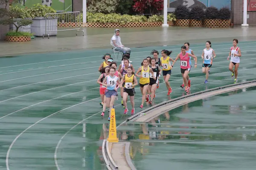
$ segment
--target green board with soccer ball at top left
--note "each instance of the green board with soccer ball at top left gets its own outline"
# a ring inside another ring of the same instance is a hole
[[[37,3],[51,6],[57,12],[72,11],[72,0],[19,0],[15,5],[21,8],[31,8]]]

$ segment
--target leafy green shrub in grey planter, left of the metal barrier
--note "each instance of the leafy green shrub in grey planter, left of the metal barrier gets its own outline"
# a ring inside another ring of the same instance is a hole
[[[31,32],[31,29],[30,29],[30,24],[27,25],[27,26],[22,26],[21,23],[24,23],[24,21],[26,20],[31,20],[31,16],[28,12],[28,8],[20,8],[18,6],[10,6],[10,9],[9,9],[9,17],[13,19],[13,21],[15,21],[15,23],[10,23],[10,30],[11,31],[15,31],[17,32],[17,30],[19,29],[19,31],[21,32]],[[23,20],[23,21],[22,21]],[[22,21],[22,22],[19,22],[18,21]],[[29,22],[29,23],[32,23]]]

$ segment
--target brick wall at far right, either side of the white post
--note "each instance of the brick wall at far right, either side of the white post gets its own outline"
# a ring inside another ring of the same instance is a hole
[[[231,0],[232,21],[234,24],[243,23],[243,0]],[[256,24],[256,12],[247,12],[247,24]]]

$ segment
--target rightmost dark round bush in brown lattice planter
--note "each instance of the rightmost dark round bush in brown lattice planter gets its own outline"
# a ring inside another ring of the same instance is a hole
[[[231,11],[230,8],[224,7],[219,10],[219,27],[220,28],[230,28],[231,23]]]

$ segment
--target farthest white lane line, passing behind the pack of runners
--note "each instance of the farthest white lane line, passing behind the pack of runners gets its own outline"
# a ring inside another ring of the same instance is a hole
[[[241,48],[251,48],[251,47],[256,47],[256,46],[248,46],[248,47],[241,47]],[[224,50],[224,49],[230,49],[230,48],[218,48],[218,49],[215,49],[216,50]],[[200,51],[193,51],[193,52],[201,52],[202,50]],[[255,50],[248,50],[248,51],[255,51]],[[244,52],[247,52],[247,51],[244,51]],[[180,52],[178,53],[172,53],[172,54],[179,54]],[[222,52],[222,53],[216,53],[216,54],[224,54],[224,53],[228,53],[227,52]],[[243,53],[243,52],[242,52]],[[197,54],[197,55],[201,55],[201,54]],[[141,57],[148,57],[148,55],[145,55],[145,56],[137,56],[137,57],[132,57],[132,59],[137,59],[137,58],[141,58]],[[220,57],[219,57],[220,58]],[[63,67],[63,66],[69,66],[69,65],[79,65],[79,64],[87,64],[87,63],[96,63],[96,62],[102,62],[102,60],[98,60],[98,61],[92,61],[92,62],[79,62],[79,63],[73,63],[73,64],[67,64],[67,65],[57,65],[57,66],[47,66],[47,67],[41,67],[41,68],[28,68],[28,70],[24,70],[24,71],[31,71],[31,70],[41,70],[41,69],[47,69],[47,68],[55,68],[55,67]],[[90,68],[98,68],[99,65],[97,66],[94,66],[94,67],[90,67]],[[12,73],[4,73],[4,74],[13,74],[13,73],[20,73],[20,72],[24,72],[24,71],[14,71]],[[0,75],[4,75],[4,74],[0,74]]]

